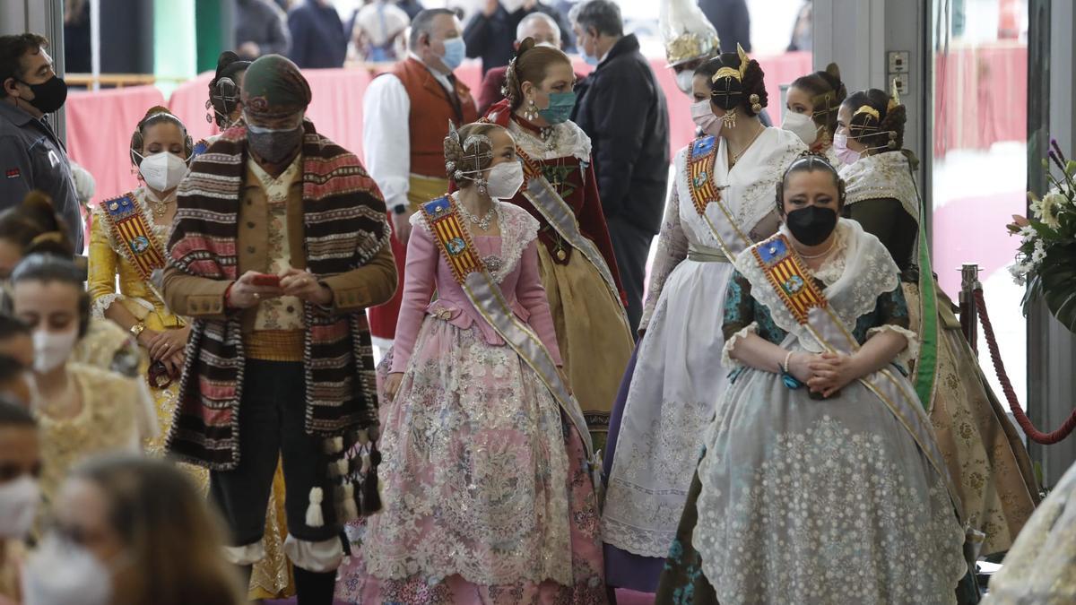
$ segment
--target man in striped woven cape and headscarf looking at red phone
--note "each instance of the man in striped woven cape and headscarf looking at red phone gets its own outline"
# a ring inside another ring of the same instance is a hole
[[[229,558],[247,574],[283,459],[299,602],[328,604],[341,523],[380,507],[365,309],[392,297],[396,269],[377,185],[305,119],[310,98],[292,61],[254,61],[245,126],[179,187],[164,295],[194,329],[168,442],[211,469]]]

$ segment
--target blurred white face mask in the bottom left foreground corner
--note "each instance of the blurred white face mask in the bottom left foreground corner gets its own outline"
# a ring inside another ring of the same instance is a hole
[[[23,572],[24,605],[108,605],[112,572],[84,547],[47,535]]]

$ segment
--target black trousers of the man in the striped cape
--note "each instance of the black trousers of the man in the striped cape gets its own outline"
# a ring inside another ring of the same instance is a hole
[[[340,535],[325,480],[328,458],[321,437],[303,430],[306,377],[301,363],[247,360],[239,404],[239,466],[210,474],[210,495],[231,530],[232,546],[255,544],[265,533],[277,461],[283,458],[287,531],[303,541]],[[310,490],[324,490],[325,524],[307,525]]]

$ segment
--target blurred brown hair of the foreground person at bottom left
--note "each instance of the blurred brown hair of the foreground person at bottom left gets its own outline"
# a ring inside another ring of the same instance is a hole
[[[223,523],[182,470],[111,454],[76,466],[71,476],[102,492],[108,524],[132,554],[125,583],[129,603],[245,603],[233,567],[224,560]]]

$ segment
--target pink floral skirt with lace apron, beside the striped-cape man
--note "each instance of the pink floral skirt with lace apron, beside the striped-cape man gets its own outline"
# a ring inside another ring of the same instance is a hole
[[[380,445],[384,509],[339,597],[605,601],[582,441],[512,349],[427,316]]]

